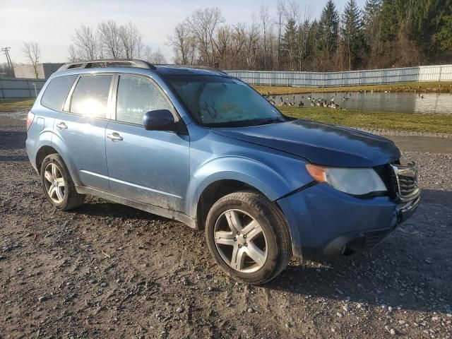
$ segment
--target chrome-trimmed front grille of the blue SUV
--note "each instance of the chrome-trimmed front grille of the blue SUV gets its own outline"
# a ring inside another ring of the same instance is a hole
[[[409,201],[415,198],[419,193],[419,186],[417,186],[416,165],[391,164],[391,169],[393,191],[398,200]]]

